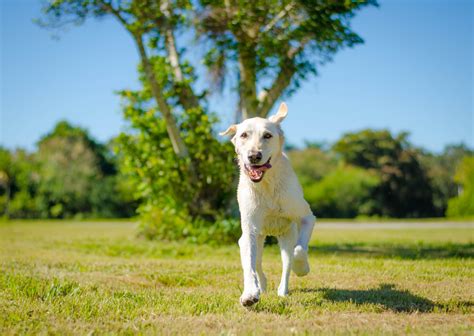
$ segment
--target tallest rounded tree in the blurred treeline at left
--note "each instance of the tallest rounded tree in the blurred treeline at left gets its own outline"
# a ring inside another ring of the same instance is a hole
[[[59,122],[38,142],[42,216],[130,215],[133,208],[116,189],[116,168],[108,156],[86,130]]]

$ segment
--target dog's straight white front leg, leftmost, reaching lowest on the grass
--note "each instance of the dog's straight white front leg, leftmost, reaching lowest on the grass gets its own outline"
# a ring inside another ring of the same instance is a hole
[[[243,306],[251,306],[258,302],[260,289],[257,279],[257,228],[259,222],[255,219],[248,222],[242,219],[242,237],[239,239],[240,258],[244,271],[244,291],[240,297]]]

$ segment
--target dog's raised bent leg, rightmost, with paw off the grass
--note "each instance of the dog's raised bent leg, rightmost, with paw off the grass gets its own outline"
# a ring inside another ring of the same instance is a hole
[[[309,273],[308,245],[313,233],[316,217],[305,216],[301,219],[298,242],[294,250],[293,272],[297,276],[305,276]]]

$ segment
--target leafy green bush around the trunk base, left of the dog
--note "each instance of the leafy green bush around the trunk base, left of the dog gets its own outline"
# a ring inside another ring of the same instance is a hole
[[[121,93],[130,131],[118,138],[124,171],[134,180],[141,232],[146,237],[226,242],[239,232],[221,220],[231,215],[236,169],[233,148],[212,133],[216,119],[188,109],[177,119],[195,167],[188,173],[167,135],[166,122],[150,106],[147,91]],[[216,224],[217,221],[217,224]],[[227,237],[227,238],[226,238]]]

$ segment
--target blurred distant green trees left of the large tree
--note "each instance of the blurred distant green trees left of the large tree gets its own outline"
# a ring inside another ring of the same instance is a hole
[[[112,153],[59,122],[32,154],[0,149],[0,207],[10,218],[129,217],[135,201]]]

